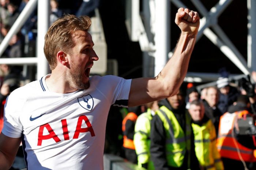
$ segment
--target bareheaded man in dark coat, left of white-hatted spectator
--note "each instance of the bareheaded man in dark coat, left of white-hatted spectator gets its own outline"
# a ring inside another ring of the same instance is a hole
[[[219,128],[219,118],[222,113],[218,109],[218,101],[219,101],[219,91],[217,87],[211,86],[206,89],[206,96],[203,99],[205,114],[208,118],[211,119],[212,123],[215,126],[216,132],[218,132]]]

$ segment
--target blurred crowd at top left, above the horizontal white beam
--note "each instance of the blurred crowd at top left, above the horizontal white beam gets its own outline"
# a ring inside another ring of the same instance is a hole
[[[25,8],[29,0],[0,0],[0,42]],[[50,0],[50,24],[63,14],[94,15],[98,0]],[[37,37],[37,8],[31,13],[20,31],[16,33],[1,58],[34,57]]]

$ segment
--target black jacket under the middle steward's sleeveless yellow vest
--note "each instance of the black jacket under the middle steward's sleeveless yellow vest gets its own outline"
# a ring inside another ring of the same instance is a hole
[[[185,121],[185,105],[180,109],[174,110],[170,106],[169,102],[164,99],[159,102],[159,106],[166,106],[170,109],[178,122],[181,125],[181,128],[185,132],[186,121]],[[188,169],[188,152],[185,153],[185,158],[183,164],[179,168],[170,167],[167,165],[166,160],[166,150],[165,150],[165,128],[163,122],[161,121],[158,115],[154,116],[151,121],[151,143],[150,143],[150,154],[151,159],[154,163],[155,170],[187,170]],[[190,164],[191,170],[199,170],[199,163],[195,154],[195,144],[194,144],[194,135],[191,133],[191,153],[190,153]]]

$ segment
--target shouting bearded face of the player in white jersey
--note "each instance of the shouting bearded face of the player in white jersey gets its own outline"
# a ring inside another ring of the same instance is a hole
[[[76,89],[87,89],[90,86],[89,76],[93,61],[99,58],[93,50],[94,43],[88,32],[76,31],[73,34],[73,42],[75,46],[70,54],[67,54],[69,82]]]

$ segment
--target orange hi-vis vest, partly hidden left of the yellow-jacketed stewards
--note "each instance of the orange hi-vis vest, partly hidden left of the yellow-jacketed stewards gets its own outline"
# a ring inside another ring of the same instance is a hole
[[[135,146],[134,146],[134,143],[133,143],[133,140],[131,139],[128,139],[127,136],[125,135],[125,124],[127,122],[127,120],[131,120],[133,122],[136,122],[138,116],[133,113],[133,112],[129,112],[125,117],[124,117],[124,120],[122,122],[122,131],[124,133],[124,143],[123,143],[123,147],[125,148],[129,148],[129,149],[132,149],[132,150],[135,150]]]

